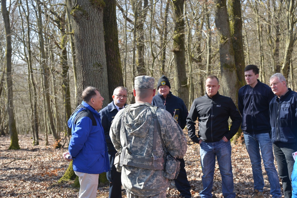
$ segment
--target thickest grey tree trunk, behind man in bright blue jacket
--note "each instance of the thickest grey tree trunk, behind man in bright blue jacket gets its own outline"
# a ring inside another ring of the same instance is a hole
[[[81,103],[81,93],[87,86],[100,90],[108,98],[108,80],[103,31],[103,0],[69,1],[73,18],[76,51],[77,95],[76,105]]]

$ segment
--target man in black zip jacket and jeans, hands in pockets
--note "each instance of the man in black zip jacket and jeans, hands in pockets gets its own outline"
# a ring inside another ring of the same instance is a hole
[[[205,96],[196,98],[191,106],[187,127],[193,142],[200,145],[203,190],[201,198],[212,198],[213,175],[218,160],[222,177],[224,198],[235,198],[231,165],[230,139],[237,133],[241,115],[230,97],[219,94],[219,79],[208,76],[205,80]],[[229,129],[228,119],[232,120]],[[195,121],[198,118],[199,133],[196,136]]]

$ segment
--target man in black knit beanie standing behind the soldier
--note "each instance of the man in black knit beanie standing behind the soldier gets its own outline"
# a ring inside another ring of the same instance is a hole
[[[180,128],[184,129],[188,116],[187,107],[182,99],[174,96],[171,93],[171,86],[166,76],[161,76],[158,81],[157,89],[158,94],[153,97],[152,105],[171,113],[172,117],[177,121]],[[185,160],[183,158],[177,158],[177,160],[180,161],[180,173],[174,180],[175,186],[180,192],[180,196],[189,198],[191,197],[191,185],[188,181],[187,172],[185,170]]]

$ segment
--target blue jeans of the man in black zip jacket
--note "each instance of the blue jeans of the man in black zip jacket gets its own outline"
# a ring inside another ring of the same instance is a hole
[[[224,198],[234,198],[233,192],[233,173],[231,166],[231,144],[230,140],[224,142],[205,142],[200,143],[200,157],[202,165],[202,184],[203,190],[200,192],[201,198],[212,198],[213,175],[216,164],[216,157],[222,177],[222,193]]]

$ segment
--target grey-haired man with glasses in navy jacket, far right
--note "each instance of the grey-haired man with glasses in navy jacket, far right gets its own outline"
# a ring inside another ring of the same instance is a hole
[[[275,94],[269,104],[270,137],[285,198],[291,198],[292,153],[297,151],[297,93],[287,87],[281,73],[270,77],[270,87]]]

